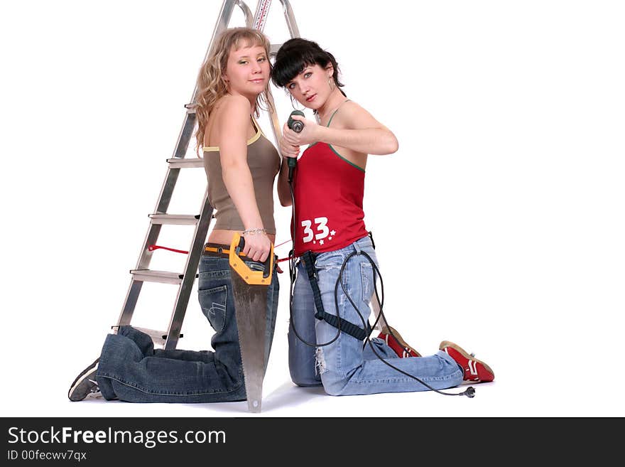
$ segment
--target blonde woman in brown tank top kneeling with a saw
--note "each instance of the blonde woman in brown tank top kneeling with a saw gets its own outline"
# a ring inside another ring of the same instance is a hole
[[[214,352],[154,349],[151,338],[122,326],[104,342],[99,359],[75,380],[72,401],[101,393],[130,402],[227,402],[246,398],[234,297],[227,254],[243,232],[251,267],[262,267],[275,240],[273,182],[281,171],[278,151],[256,122],[270,105],[269,42],[259,31],[232,28],[219,36],[197,78],[197,146],[202,149],[215,224],[200,259],[198,298],[215,333]],[[283,164],[286,166],[286,164]],[[288,198],[286,170],[278,195]],[[255,263],[255,264],[253,264]],[[278,308],[273,274],[266,306],[265,363]]]

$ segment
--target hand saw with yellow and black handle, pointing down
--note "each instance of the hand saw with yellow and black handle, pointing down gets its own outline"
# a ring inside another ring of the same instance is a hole
[[[252,271],[244,259],[239,257],[244,246],[244,238],[235,233],[229,252],[234,315],[239,330],[247,407],[250,412],[261,412],[263,377],[266,370],[267,291],[273,273],[273,245],[264,263],[264,271]]]

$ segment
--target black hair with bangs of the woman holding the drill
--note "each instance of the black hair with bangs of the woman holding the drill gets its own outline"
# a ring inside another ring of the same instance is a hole
[[[339,81],[339,64],[334,55],[320,48],[316,42],[302,38],[289,39],[278,50],[276,63],[273,64],[271,72],[271,80],[276,86],[285,87],[307,66],[319,65],[321,68],[327,68],[328,64],[332,64],[332,68],[334,68],[332,79],[335,80],[335,85],[339,88],[343,87],[343,83]],[[339,91],[345,95],[342,90],[339,89]]]

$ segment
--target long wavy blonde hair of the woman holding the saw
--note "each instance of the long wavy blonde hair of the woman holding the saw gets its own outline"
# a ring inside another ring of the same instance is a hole
[[[226,71],[230,51],[254,45],[263,47],[267,54],[267,60],[269,60],[271,44],[261,31],[252,28],[229,28],[217,38],[209,56],[202,63],[200,73],[197,76],[197,98],[194,106],[197,119],[197,131],[195,132],[197,156],[200,156],[200,148],[204,146],[208,117],[210,117],[217,101],[228,94],[223,75]],[[269,62],[269,67],[271,69],[271,62]],[[267,80],[265,90],[256,97],[256,117],[259,116],[260,108],[270,109],[273,112],[271,90],[269,89],[270,81]]]

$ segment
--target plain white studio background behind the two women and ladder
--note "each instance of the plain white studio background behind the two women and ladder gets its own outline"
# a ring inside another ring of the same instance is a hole
[[[1,7],[4,416],[249,415],[244,402],[66,397],[121,311],[220,4]],[[337,57],[347,95],[399,141],[366,171],[388,321],[425,355],[443,339],[474,351],[496,381],[472,400],[294,387],[282,274],[254,417],[624,416],[621,2],[292,5],[301,35]],[[237,9],[231,25],[241,18]],[[288,38],[277,0],[266,33]],[[274,95],[283,122],[291,108],[282,90]],[[170,213],[197,212],[203,177],[180,178]],[[278,243],[289,218],[276,203]],[[168,228],[179,230],[163,230],[159,244],[188,249],[192,227]],[[160,250],[152,267],[183,262]],[[133,323],[166,328],[174,294],[144,286]],[[195,289],[183,333],[180,348],[210,347]]]

